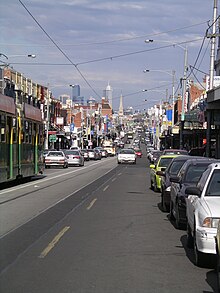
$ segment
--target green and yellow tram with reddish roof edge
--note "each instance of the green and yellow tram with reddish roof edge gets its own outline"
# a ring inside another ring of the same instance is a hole
[[[0,94],[0,183],[42,173],[43,143],[40,109]]]

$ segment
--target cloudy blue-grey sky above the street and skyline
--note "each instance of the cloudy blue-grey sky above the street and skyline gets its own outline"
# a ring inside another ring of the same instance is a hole
[[[173,77],[175,96],[181,94],[186,52],[190,80],[202,83],[209,73],[205,34],[213,5],[214,0],[1,0],[0,54],[8,59],[2,55],[0,64],[48,86],[57,99],[78,84],[85,99],[101,101],[109,83],[114,110],[120,95],[124,108],[147,109],[169,99]]]

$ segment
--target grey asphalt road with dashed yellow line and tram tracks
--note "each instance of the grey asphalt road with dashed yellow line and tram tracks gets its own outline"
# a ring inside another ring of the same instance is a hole
[[[149,189],[146,156],[47,170],[2,190],[0,292],[215,292]]]

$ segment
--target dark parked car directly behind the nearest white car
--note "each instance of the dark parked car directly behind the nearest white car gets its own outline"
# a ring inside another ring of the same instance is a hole
[[[203,172],[216,161],[205,157],[191,158],[183,164],[177,176],[170,177],[170,219],[175,221],[177,229],[186,225],[186,188],[196,186]]]

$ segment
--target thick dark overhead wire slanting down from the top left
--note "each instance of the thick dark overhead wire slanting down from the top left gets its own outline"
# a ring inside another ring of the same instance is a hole
[[[20,4],[24,7],[27,13],[31,16],[31,18],[36,22],[36,24],[40,27],[40,29],[45,33],[45,35],[50,39],[50,41],[55,45],[55,47],[63,54],[63,56],[75,67],[79,75],[86,82],[86,84],[90,87],[90,89],[101,99],[101,96],[96,92],[96,90],[91,86],[85,76],[77,67],[77,64],[73,63],[73,61],[69,58],[69,56],[57,45],[57,43],[52,39],[52,37],[46,32],[46,30],[42,27],[42,25],[37,21],[37,19],[33,16],[33,14],[28,10],[28,8],[23,4],[21,0],[19,0]]]

